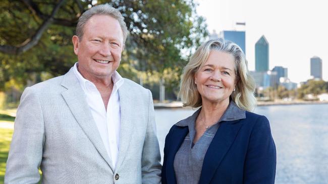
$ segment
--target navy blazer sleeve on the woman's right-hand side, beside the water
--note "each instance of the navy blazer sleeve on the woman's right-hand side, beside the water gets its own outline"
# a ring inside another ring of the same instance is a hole
[[[275,183],[276,146],[269,121],[260,116],[250,135],[244,165],[244,183]]]

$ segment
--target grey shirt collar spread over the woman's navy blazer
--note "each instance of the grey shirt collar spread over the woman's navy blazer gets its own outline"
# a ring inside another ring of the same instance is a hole
[[[201,108],[199,108],[193,115],[187,119],[181,120],[176,125],[180,127],[185,127],[190,124],[190,122],[195,122],[198,114],[200,113]],[[230,101],[229,106],[226,112],[222,115],[221,119],[218,122],[222,121],[235,121],[246,118],[246,111],[240,109],[234,101]]]

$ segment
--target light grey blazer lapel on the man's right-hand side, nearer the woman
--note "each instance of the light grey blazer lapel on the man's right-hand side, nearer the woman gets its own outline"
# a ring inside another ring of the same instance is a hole
[[[132,113],[133,107],[131,106],[131,102],[133,99],[129,96],[128,93],[131,93],[129,88],[123,84],[119,88],[119,96],[120,96],[120,109],[121,109],[121,128],[120,128],[120,143],[119,143],[119,153],[118,159],[116,163],[116,168],[119,168],[128,154],[128,149],[130,145],[130,140],[132,137],[133,126],[132,122]]]

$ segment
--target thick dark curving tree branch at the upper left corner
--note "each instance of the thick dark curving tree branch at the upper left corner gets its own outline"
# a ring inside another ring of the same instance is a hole
[[[51,15],[43,21],[42,25],[39,27],[37,32],[31,37],[25,40],[21,46],[15,47],[11,45],[0,45],[0,52],[4,52],[7,54],[20,54],[22,52],[26,52],[28,49],[35,46],[39,40],[41,39],[41,36],[43,32],[48,28],[48,26],[53,22],[54,15],[57,14],[60,7],[64,4],[66,0],[61,0],[56,7],[51,12]],[[24,1],[24,2],[30,2],[30,1]]]

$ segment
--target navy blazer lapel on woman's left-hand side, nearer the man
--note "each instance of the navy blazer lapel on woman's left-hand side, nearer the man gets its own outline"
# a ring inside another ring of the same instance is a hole
[[[188,126],[185,127],[178,127],[175,126],[175,129],[170,136],[170,147],[168,147],[168,156],[167,156],[167,166],[166,166],[166,173],[167,173],[167,181],[168,183],[177,183],[176,175],[174,172],[174,158],[176,153],[178,152],[182,142],[185,140],[186,135],[188,134],[189,129]],[[171,177],[173,176],[173,177]]]

